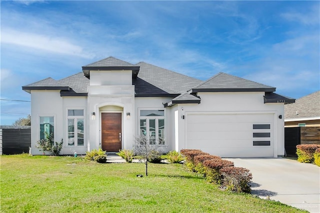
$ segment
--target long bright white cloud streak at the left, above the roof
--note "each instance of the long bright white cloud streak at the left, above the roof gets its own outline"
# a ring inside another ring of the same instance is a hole
[[[14,44],[83,58],[92,57],[92,55],[85,53],[82,47],[72,44],[65,38],[17,31],[9,28],[1,30],[1,43]]]

